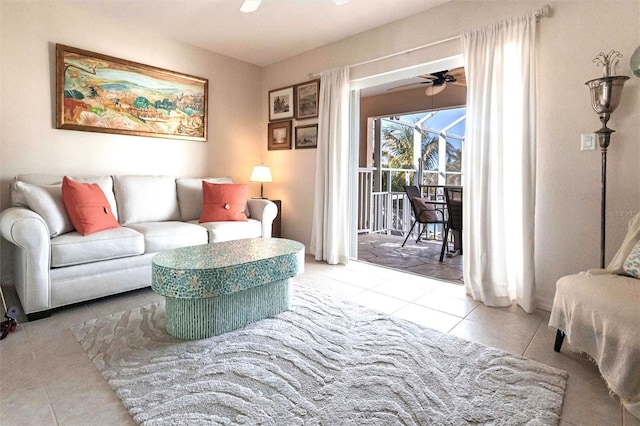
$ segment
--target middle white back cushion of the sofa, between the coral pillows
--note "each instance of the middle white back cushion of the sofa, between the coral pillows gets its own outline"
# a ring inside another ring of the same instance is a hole
[[[180,220],[176,179],[172,176],[114,176],[121,225]]]

